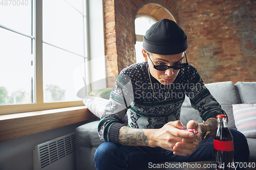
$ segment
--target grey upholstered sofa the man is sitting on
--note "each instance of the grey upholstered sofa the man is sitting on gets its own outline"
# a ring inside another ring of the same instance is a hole
[[[233,104],[255,104],[256,103],[256,82],[218,82],[206,84],[211,94],[221,104],[223,110],[228,114],[228,127],[237,129],[234,116]],[[194,119],[202,123],[198,111],[190,105],[186,97],[182,105],[180,120],[183,125]],[[95,169],[94,153],[102,143],[97,134],[99,120],[82,125],[76,129],[76,162],[77,170]],[[255,124],[254,124],[255,126]],[[256,138],[247,138],[250,149],[250,162],[256,162]]]

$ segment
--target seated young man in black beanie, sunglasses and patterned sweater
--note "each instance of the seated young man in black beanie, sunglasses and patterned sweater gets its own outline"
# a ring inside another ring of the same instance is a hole
[[[148,29],[142,50],[145,62],[120,72],[99,122],[99,137],[106,142],[95,153],[97,169],[144,169],[150,162],[215,159],[216,115],[226,113],[197,69],[187,63],[187,47],[185,33],[172,20],[162,19]],[[181,124],[185,95],[204,123]],[[182,130],[186,128],[198,133]],[[248,161],[246,138],[238,131],[231,133],[234,160]]]

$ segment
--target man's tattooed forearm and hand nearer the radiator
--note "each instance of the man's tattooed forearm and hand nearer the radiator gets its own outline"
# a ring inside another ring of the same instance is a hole
[[[161,147],[165,150],[174,151],[177,142],[186,141],[185,145],[194,149],[195,136],[193,133],[184,131],[186,129],[179,120],[169,122],[160,129],[134,129],[121,127],[118,134],[118,141],[124,145],[138,145],[148,147]],[[179,148],[179,152],[189,154],[187,149]],[[184,151],[183,151],[184,150]],[[179,153],[177,152],[177,153]]]

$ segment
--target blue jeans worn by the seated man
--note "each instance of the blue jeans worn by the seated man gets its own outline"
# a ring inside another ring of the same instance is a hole
[[[237,131],[230,129],[234,143],[234,161],[248,162],[249,148],[245,136]],[[162,148],[136,147],[104,142],[99,145],[94,154],[95,166],[100,169],[145,169],[150,162],[158,163],[161,161],[173,162],[196,162],[215,160],[214,141],[210,136],[202,140],[199,147],[187,156],[174,155],[172,151]]]

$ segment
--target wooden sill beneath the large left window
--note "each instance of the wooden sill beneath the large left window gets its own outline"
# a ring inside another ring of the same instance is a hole
[[[96,118],[86,106],[0,115],[0,143]]]

